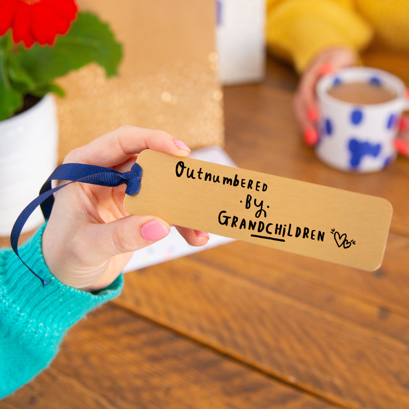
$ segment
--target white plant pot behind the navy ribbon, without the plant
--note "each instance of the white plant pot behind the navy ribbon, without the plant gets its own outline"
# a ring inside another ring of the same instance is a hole
[[[19,115],[0,122],[0,236],[9,236],[20,212],[57,165],[58,122],[54,97],[46,95]],[[23,232],[44,218],[39,208]]]

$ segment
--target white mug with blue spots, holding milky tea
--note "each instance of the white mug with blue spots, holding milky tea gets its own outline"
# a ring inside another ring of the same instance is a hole
[[[379,104],[354,104],[334,98],[328,90],[347,82],[369,82],[392,90],[395,98]],[[402,111],[409,109],[403,81],[370,67],[351,67],[317,83],[320,105],[315,154],[334,168],[348,172],[379,171],[396,158],[394,140]]]

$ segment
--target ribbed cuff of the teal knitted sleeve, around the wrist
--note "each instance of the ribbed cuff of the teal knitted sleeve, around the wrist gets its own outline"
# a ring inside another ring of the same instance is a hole
[[[41,282],[21,264],[11,250],[0,257],[0,296],[6,316],[26,336],[26,342],[54,344],[63,333],[95,307],[119,296],[123,279],[119,276],[111,285],[96,293],[77,290],[59,282],[48,269],[41,252],[45,224],[19,248],[22,260],[40,277]],[[41,335],[42,334],[42,335]]]

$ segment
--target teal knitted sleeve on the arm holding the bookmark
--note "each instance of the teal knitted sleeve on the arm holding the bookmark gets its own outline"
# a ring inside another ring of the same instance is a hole
[[[122,276],[97,293],[59,282],[42,257],[44,226],[19,248],[21,258],[50,280],[44,288],[11,249],[0,250],[0,399],[48,367],[66,331],[122,289]]]

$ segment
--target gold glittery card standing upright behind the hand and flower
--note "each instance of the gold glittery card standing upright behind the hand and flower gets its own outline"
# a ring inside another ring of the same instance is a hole
[[[119,76],[90,64],[59,81],[59,160],[120,125],[162,129],[192,149],[223,145],[214,0],[79,0],[123,44]]]

